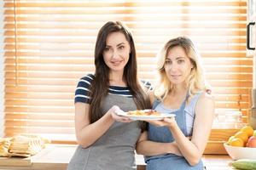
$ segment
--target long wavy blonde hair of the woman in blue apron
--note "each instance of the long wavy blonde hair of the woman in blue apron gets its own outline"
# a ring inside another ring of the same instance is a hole
[[[157,71],[160,75],[160,79],[154,88],[154,96],[157,99],[165,99],[166,95],[172,91],[173,84],[166,76],[165,61],[169,51],[177,46],[184,49],[191,64],[194,66],[189,74],[189,77],[187,80],[185,80],[189,97],[192,97],[203,90],[209,90],[210,88],[204,77],[204,71],[201,65],[201,55],[195,48],[194,43],[189,39],[189,37],[176,37],[166,42],[164,47],[161,48],[160,52],[157,54]]]

